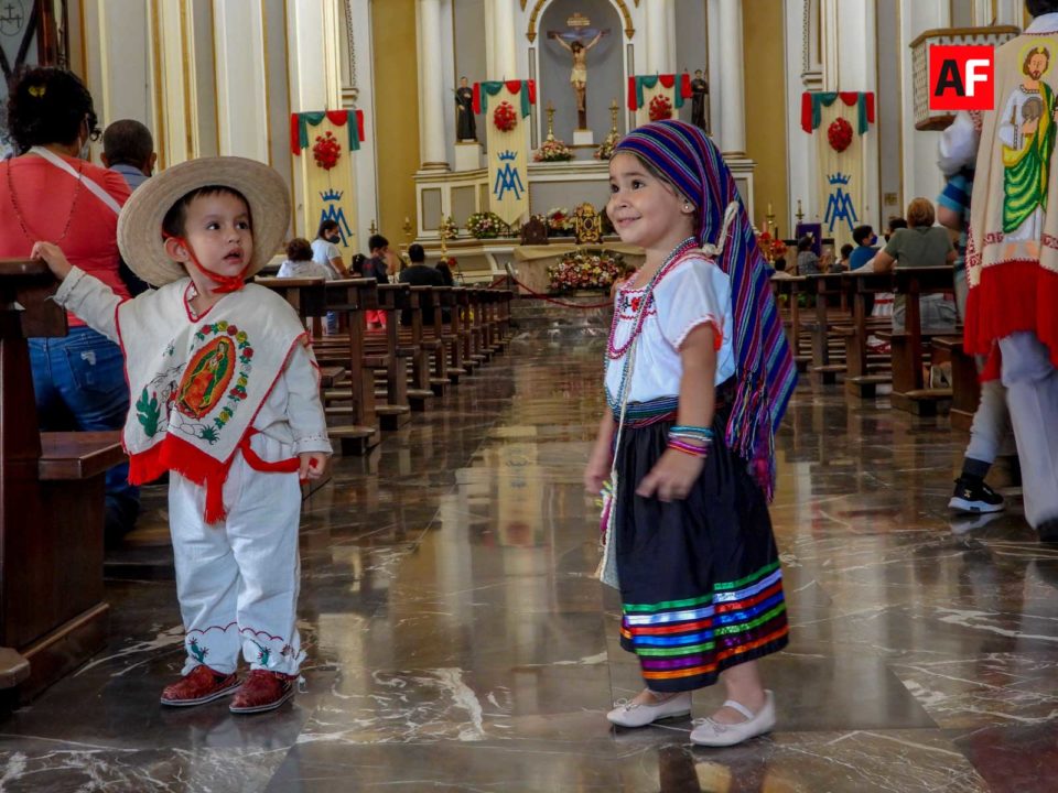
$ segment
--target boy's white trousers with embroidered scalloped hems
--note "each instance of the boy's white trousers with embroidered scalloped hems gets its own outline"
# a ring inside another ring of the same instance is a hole
[[[251,446],[266,460],[284,457],[284,445],[263,435]],[[207,664],[228,674],[241,650],[250,669],[296,674],[305,655],[295,627],[298,474],[256,471],[236,453],[224,485],[224,521],[205,523],[205,488],[170,474],[176,594],[186,631],[183,673]]]

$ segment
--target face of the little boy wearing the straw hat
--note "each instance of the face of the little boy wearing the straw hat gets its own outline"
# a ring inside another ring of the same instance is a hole
[[[184,238],[198,263],[217,275],[240,275],[253,256],[249,209],[241,198],[230,193],[194,198],[187,206]],[[174,246],[171,256],[185,265],[191,263],[191,254],[183,246]],[[195,267],[188,267],[187,272],[202,293],[208,283],[199,280],[205,281],[206,276]]]

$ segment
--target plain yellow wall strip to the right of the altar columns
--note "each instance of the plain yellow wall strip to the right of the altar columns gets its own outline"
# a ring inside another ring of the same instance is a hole
[[[744,4],[743,54],[746,75],[746,154],[756,162],[753,174],[753,222],[764,229],[768,204],[782,237],[791,237],[786,228],[786,67],[782,42],[782,0],[753,0]]]

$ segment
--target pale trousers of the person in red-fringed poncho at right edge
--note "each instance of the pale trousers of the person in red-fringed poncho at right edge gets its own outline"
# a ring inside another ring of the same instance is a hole
[[[1058,519],[1058,370],[1033,333],[1000,339],[1003,384],[1022,460],[1025,518],[1033,529]]]

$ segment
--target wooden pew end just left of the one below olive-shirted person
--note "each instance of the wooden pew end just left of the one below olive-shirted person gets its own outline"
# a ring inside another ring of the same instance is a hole
[[[878,356],[872,356],[867,349],[867,339],[877,332],[893,329],[890,317],[871,317],[867,315],[867,298],[882,292],[893,291],[890,273],[853,271],[843,273],[850,283],[852,295],[852,326],[839,333],[845,339],[845,391],[853,397],[871,399],[876,395],[878,385],[892,383],[889,359],[884,362]]]

